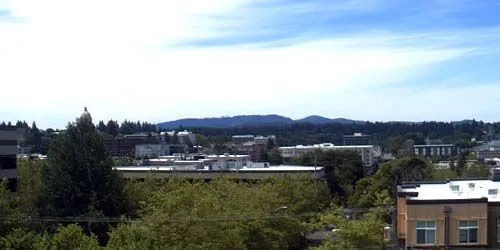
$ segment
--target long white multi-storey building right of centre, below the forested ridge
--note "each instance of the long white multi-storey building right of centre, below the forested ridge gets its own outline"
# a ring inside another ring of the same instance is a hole
[[[377,148],[373,145],[353,145],[353,146],[335,146],[332,143],[322,143],[315,145],[297,145],[291,147],[280,147],[283,158],[293,158],[321,151],[354,151],[360,154],[363,166],[371,166],[375,163],[375,153]]]

